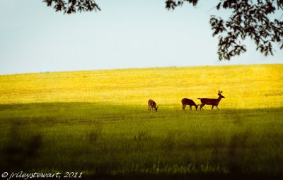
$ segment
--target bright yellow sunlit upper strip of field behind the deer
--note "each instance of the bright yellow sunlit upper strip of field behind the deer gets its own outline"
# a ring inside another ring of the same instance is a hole
[[[105,102],[180,107],[183,97],[226,97],[219,107],[283,106],[283,64],[134,68],[0,76],[0,103]],[[204,109],[207,107],[204,107]]]

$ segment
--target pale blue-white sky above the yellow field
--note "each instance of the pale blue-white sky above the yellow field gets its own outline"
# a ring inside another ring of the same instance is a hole
[[[248,51],[219,61],[209,17],[217,1],[168,11],[163,0],[96,0],[102,11],[67,15],[41,0],[0,0],[0,75],[170,66],[282,64]],[[282,14],[275,14],[280,17]]]

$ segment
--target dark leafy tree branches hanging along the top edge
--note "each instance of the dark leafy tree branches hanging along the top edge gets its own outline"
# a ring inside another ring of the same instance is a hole
[[[168,10],[174,10],[184,3],[197,6],[199,0],[166,0]],[[100,11],[94,0],[43,0],[47,6],[53,6],[55,11],[71,14],[83,11]],[[210,16],[209,23],[212,35],[217,36],[219,60],[230,60],[246,52],[246,45],[241,40],[250,37],[256,44],[256,49],[265,56],[273,55],[274,45],[283,49],[283,0],[218,0],[216,9],[230,9],[231,16],[224,19]],[[271,18],[270,15],[280,11],[281,17]]]

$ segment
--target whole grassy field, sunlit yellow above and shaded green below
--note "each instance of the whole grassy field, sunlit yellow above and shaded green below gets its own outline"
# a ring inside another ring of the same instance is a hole
[[[283,64],[0,76],[1,172],[87,179],[283,176]],[[182,109],[217,98],[219,111]],[[158,112],[148,111],[148,100]]]

